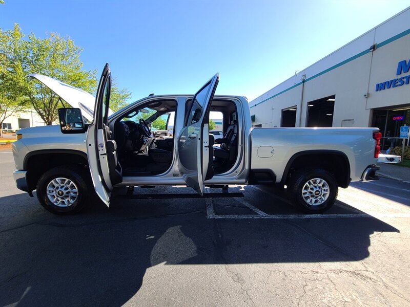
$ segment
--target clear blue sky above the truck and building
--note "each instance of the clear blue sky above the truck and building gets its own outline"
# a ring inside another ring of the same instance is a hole
[[[84,68],[106,62],[132,100],[194,93],[216,72],[217,94],[251,101],[410,6],[402,1],[18,1],[0,27],[70,36]],[[98,73],[99,75],[99,73]]]

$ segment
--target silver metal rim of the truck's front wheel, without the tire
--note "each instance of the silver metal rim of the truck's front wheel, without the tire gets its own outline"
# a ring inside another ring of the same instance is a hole
[[[57,207],[70,207],[78,199],[78,188],[67,178],[55,178],[47,185],[47,197]]]

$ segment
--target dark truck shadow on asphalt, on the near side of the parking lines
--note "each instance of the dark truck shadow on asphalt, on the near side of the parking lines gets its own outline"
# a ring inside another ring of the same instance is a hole
[[[374,217],[208,219],[203,199],[121,201],[74,216],[18,205],[26,201],[0,198],[16,204],[2,216],[1,306],[121,306],[153,266],[357,261],[373,233],[399,232]]]

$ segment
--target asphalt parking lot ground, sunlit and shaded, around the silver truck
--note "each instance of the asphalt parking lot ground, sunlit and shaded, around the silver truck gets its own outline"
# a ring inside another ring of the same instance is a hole
[[[117,199],[56,216],[13,170],[0,151],[0,306],[410,305],[406,182],[354,183],[321,215],[235,186],[243,198]]]

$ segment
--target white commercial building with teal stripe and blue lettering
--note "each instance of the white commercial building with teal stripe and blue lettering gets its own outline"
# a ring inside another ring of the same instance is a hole
[[[410,124],[410,8],[251,101],[256,127],[380,128],[382,149]],[[395,139],[397,138],[397,139]]]

